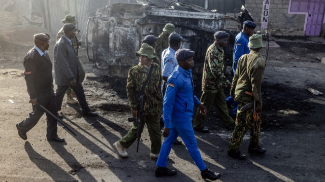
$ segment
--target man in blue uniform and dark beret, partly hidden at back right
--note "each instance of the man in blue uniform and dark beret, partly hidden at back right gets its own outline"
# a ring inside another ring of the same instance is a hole
[[[234,75],[235,75],[235,72],[236,72],[236,68],[237,68],[239,58],[242,55],[248,54],[250,52],[249,47],[247,45],[248,45],[248,42],[249,42],[249,37],[254,34],[255,27],[256,27],[256,24],[253,23],[252,21],[244,21],[243,30],[236,35],[235,45],[234,45],[234,53],[233,53],[233,57],[234,57],[234,60],[233,60],[233,72],[234,72]],[[229,96],[228,98],[226,98],[225,101],[227,102],[228,105],[234,104],[233,115],[236,116],[238,103],[236,101],[234,101],[234,98],[232,96]]]

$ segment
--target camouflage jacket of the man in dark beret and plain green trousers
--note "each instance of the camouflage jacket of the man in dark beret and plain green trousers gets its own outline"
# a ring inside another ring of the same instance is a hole
[[[217,93],[231,85],[223,74],[223,49],[214,42],[207,50],[203,66],[202,91]]]

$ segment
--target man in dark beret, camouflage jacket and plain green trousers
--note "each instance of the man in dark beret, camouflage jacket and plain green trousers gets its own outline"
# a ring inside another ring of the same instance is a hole
[[[202,91],[201,103],[205,105],[209,112],[212,104],[214,103],[217,108],[218,114],[221,117],[222,123],[227,128],[234,125],[234,120],[229,116],[228,107],[225,102],[225,95],[223,87],[231,86],[231,83],[223,74],[223,49],[228,43],[229,34],[225,31],[217,31],[214,33],[214,43],[208,48],[202,77]],[[203,126],[205,116],[197,111],[194,119],[194,130],[208,133],[207,127]]]

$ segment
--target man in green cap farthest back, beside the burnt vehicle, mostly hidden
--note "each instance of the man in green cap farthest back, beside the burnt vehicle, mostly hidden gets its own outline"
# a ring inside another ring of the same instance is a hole
[[[161,53],[168,48],[168,37],[171,33],[175,32],[175,25],[172,23],[167,23],[163,29],[163,32],[158,36],[156,47],[154,48],[154,53],[157,54],[159,59],[161,60]],[[158,65],[160,66],[161,61],[159,61]]]

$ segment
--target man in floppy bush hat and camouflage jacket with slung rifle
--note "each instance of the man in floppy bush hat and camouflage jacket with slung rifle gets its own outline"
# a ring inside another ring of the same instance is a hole
[[[161,92],[160,92],[160,69],[158,64],[152,63],[151,59],[154,58],[153,48],[148,44],[144,43],[141,46],[140,51],[136,52],[139,56],[140,63],[133,66],[128,72],[126,92],[128,101],[131,106],[133,116],[137,118],[138,112],[138,101],[136,98],[137,94],[140,94],[142,85],[147,79],[147,75],[150,66],[153,67],[150,79],[143,91],[144,105],[143,105],[143,125],[148,127],[148,132],[151,141],[151,153],[150,158],[158,158],[159,151],[161,148],[161,131],[160,131],[160,110],[161,110]],[[129,148],[131,144],[137,139],[137,123],[133,124],[131,130],[127,132],[122,139],[113,144],[118,154],[126,158],[128,155],[125,148]]]

